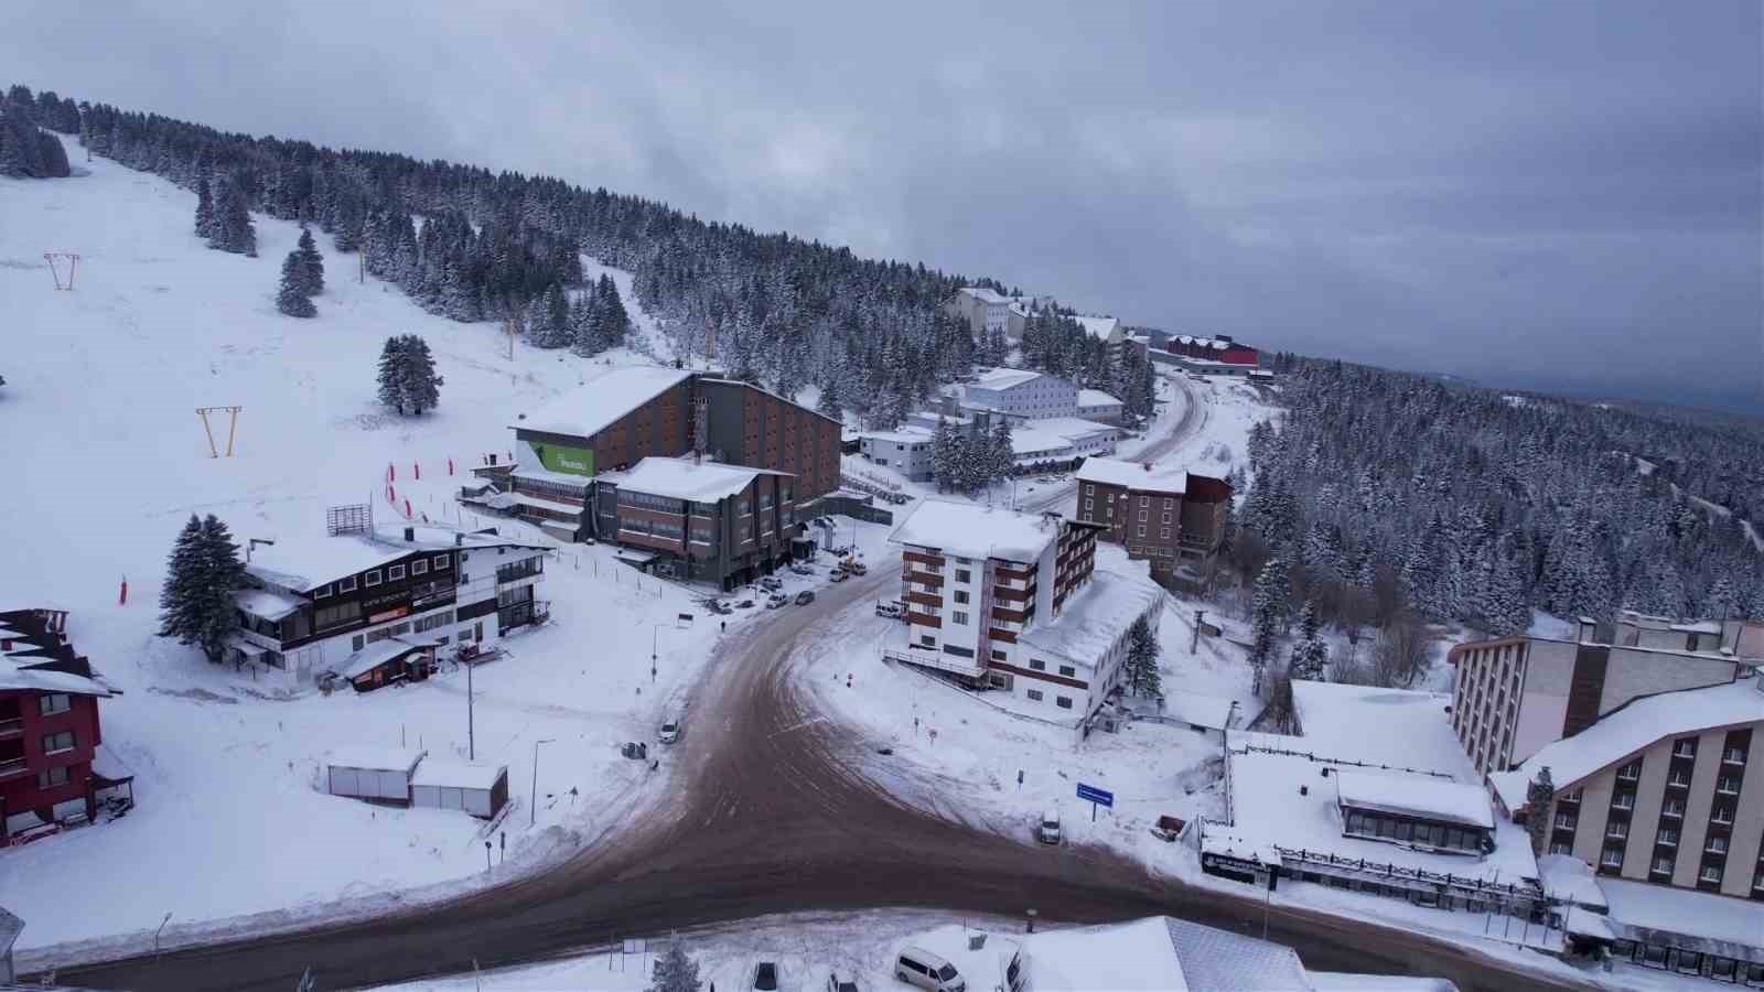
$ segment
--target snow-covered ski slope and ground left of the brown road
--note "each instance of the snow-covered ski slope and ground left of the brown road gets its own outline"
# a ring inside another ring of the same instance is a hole
[[[168,913],[166,941],[180,943],[487,881],[480,821],[314,789],[332,747],[402,741],[464,755],[464,673],[369,695],[289,697],[280,683],[153,637],[164,558],[192,512],[220,515],[242,544],[328,540],[325,507],[363,498],[385,517],[409,500],[416,517],[459,521],[450,492],[460,477],[446,475],[448,459],[462,473],[508,448],[515,411],[577,388],[607,362],[644,358],[580,360],[517,342],[510,360],[496,327],[432,318],[390,286],[358,282],[355,256],[332,252],[325,235],[319,318],[284,318],[273,291],[295,224],[258,217],[259,258],[208,251],[191,233],[194,194],[104,159],[85,168],[65,180],[0,178],[11,334],[0,420],[9,459],[30,466],[7,480],[11,505],[28,512],[0,521],[14,563],[0,570],[0,602],[72,611],[74,644],[123,690],[102,704],[101,750],[134,773],[138,807],[0,853],[0,902],[26,920],[19,950],[53,962],[60,953],[46,946],[67,941],[141,946]],[[74,291],[55,291],[44,249],[81,254]],[[612,275],[628,289],[628,275]],[[660,342],[632,297],[626,305],[637,344]],[[399,332],[427,337],[446,380],[441,408],[422,418],[374,402],[381,342]],[[208,457],[194,415],[208,404],[243,404],[231,459]],[[409,478],[416,462],[422,482]],[[383,498],[388,464],[397,505]],[[644,768],[616,747],[653,740],[667,699],[716,637],[693,595],[639,581],[605,547],[572,545],[545,568],[554,621],[512,637],[508,657],[475,673],[476,757],[508,766],[513,798],[494,837],[501,860],[508,835],[499,874],[591,842],[642,801]],[[699,620],[677,628],[679,612]],[[533,810],[534,743],[545,740]],[[339,898],[351,902],[328,906]],[[263,916],[215,921],[240,914]]]

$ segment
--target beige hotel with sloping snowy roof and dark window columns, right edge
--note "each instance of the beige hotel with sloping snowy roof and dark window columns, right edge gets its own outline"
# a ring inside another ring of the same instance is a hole
[[[1764,692],[1759,678],[1637,699],[1489,777],[1545,851],[1598,874],[1764,900]],[[1529,808],[1551,770],[1554,796]],[[1764,941],[1760,941],[1764,943]]]

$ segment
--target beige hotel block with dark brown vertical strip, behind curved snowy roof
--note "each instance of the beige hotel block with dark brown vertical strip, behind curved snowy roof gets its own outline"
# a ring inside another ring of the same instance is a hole
[[[1632,618],[1635,614],[1630,614]],[[1644,648],[1632,621],[1582,623],[1575,641],[1499,637],[1452,648],[1452,727],[1484,775],[1573,736],[1619,706],[1658,692],[1734,681],[1748,627],[1678,634],[1681,648]],[[1688,650],[1695,646],[1695,650]]]

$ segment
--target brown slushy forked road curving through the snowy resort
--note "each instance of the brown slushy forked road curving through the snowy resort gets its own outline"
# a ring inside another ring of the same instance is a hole
[[[720,643],[669,798],[596,849],[540,876],[452,902],[286,936],[85,967],[60,981],[101,988],[319,988],[499,967],[767,913],[938,907],[1108,921],[1175,914],[1259,934],[1263,902],[1154,883],[1108,851],[1037,845],[908,808],[868,780],[868,743],[817,720],[790,678],[804,634],[866,609],[898,575],[878,567]],[[1549,983],[1494,958],[1358,920],[1275,909],[1268,936],[1311,967],[1441,974],[1461,988]]]

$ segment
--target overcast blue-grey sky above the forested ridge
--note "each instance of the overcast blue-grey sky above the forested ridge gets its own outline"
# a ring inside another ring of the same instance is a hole
[[[7,7],[0,79],[64,95],[1267,348],[1764,408],[1757,0]]]

